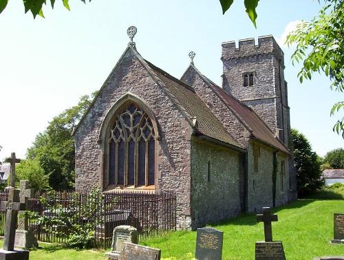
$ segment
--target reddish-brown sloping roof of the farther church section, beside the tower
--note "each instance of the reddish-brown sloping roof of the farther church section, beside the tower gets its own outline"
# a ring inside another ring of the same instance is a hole
[[[198,69],[191,64],[191,67],[195,69],[197,74],[201,76],[204,82],[219,96],[219,98],[224,102],[241,121],[244,121],[244,124],[248,127],[248,130],[251,132],[252,136],[269,144],[272,147],[275,147],[284,153],[289,154],[288,148],[275,136],[275,133],[272,132],[270,127],[265,124],[261,118],[253,111],[250,107],[244,105],[242,102],[237,100],[234,96],[228,94],[221,87],[217,86],[213,81],[206,78]],[[187,70],[186,70],[187,71]],[[184,76],[184,75],[183,75]]]

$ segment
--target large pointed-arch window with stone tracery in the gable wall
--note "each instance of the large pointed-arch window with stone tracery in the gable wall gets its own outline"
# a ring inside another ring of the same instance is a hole
[[[109,184],[150,186],[155,179],[151,118],[133,102],[120,109],[109,133]]]

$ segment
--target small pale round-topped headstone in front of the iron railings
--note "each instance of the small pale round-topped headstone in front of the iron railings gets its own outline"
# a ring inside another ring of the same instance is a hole
[[[112,235],[111,252],[105,253],[109,259],[120,259],[125,242],[138,243],[138,230],[133,226],[116,226]]]

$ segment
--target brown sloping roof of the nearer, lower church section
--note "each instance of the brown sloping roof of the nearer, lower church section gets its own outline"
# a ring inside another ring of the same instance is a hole
[[[164,72],[162,69],[144,60],[147,65],[153,70],[155,75],[164,83],[168,93],[173,97],[189,116],[191,120],[197,118],[197,124],[194,127],[204,136],[232,144],[235,147],[240,147],[239,143],[224,129],[222,123],[217,120],[206,104],[195,93],[195,90],[186,85],[178,78],[174,78],[170,74]]]

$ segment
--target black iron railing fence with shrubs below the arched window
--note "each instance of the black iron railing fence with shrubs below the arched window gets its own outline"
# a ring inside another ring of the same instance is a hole
[[[176,226],[175,193],[50,191],[35,197],[28,206],[36,218],[29,219],[28,228],[39,241],[66,243],[77,225],[93,236],[93,246],[109,248],[119,225],[136,227],[139,240]]]

